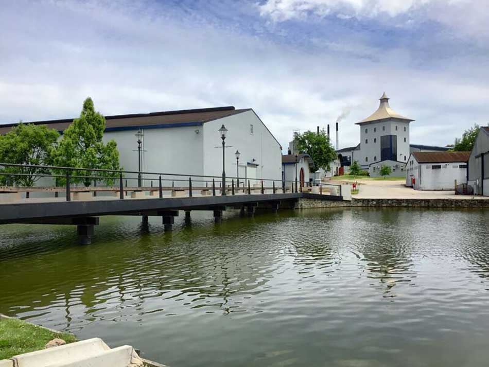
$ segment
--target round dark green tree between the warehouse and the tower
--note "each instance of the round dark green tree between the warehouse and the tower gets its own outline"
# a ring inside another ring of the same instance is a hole
[[[312,172],[316,172],[319,168],[329,170],[331,162],[338,156],[324,129],[319,134],[312,131],[297,134],[294,141],[296,149],[300,153],[309,154],[314,161]]]

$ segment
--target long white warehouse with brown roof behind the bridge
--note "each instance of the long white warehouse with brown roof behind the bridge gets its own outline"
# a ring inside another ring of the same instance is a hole
[[[251,184],[255,183],[253,179],[258,178],[281,181],[282,147],[252,109],[219,107],[105,118],[103,140],[115,140],[120,165],[126,171],[138,171],[135,134],[139,132],[142,141],[141,171],[220,177],[223,168],[222,141],[218,130],[224,125],[228,129],[225,139],[227,177],[238,174],[235,157],[238,150],[240,178],[250,179]],[[36,121],[33,124],[47,125],[63,132],[72,121]],[[15,125],[3,125],[0,133],[6,133]],[[185,180],[175,181],[175,185],[188,185],[188,177],[165,177]],[[216,180],[216,183],[220,183],[220,180]],[[231,185],[231,179],[226,183]],[[143,186],[149,184],[143,177]]]

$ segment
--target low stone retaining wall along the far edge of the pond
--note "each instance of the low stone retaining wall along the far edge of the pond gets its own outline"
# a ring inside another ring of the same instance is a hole
[[[295,208],[313,209],[326,207],[427,207],[427,208],[487,208],[489,200],[474,199],[357,199],[329,201],[300,198]]]

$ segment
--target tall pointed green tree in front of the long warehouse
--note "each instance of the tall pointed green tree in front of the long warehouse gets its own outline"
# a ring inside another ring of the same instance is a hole
[[[83,109],[79,118],[63,133],[58,148],[54,152],[54,163],[57,166],[76,168],[96,168],[120,170],[119,151],[117,144],[111,140],[103,144],[103,131],[106,128],[106,119],[94,109],[92,98],[88,97],[83,102]],[[95,172],[87,170],[74,170],[72,176],[98,176],[109,177],[101,179],[108,184],[114,182],[117,172]],[[90,186],[94,179],[73,178],[73,182]]]

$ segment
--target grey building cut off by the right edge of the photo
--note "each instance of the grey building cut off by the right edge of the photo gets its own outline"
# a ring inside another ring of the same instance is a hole
[[[479,134],[468,160],[468,182],[474,194],[489,196],[489,126],[479,129]]]

